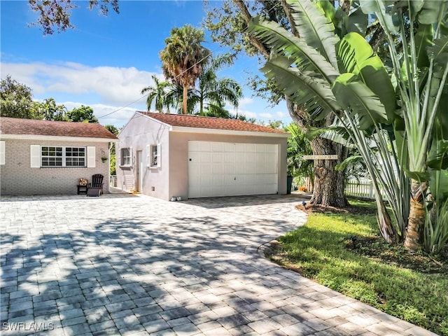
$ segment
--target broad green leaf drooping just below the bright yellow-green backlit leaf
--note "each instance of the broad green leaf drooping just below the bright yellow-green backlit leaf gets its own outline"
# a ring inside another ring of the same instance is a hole
[[[342,73],[333,83],[332,91],[345,109],[351,109],[360,130],[367,130],[374,123],[384,123],[386,110],[381,100],[354,73]]]

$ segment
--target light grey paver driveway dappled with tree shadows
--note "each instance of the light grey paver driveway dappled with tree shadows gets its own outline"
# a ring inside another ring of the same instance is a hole
[[[3,197],[4,335],[430,335],[261,258],[296,203]]]

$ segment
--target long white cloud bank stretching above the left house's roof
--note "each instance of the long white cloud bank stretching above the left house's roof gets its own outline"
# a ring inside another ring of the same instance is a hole
[[[28,85],[34,94],[94,94],[97,102],[122,106],[141,97],[141,89],[153,84],[152,75],[161,76],[134,67],[92,67],[73,62],[1,63],[1,72]]]

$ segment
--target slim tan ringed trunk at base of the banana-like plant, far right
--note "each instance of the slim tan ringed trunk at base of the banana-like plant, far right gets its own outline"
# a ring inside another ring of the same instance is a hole
[[[411,250],[421,248],[421,231],[425,222],[425,205],[423,195],[426,190],[426,183],[411,180],[411,200],[409,207],[409,221],[407,222],[405,247]]]

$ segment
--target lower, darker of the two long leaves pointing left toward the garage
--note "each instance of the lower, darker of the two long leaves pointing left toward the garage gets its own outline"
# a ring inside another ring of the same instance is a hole
[[[300,109],[309,112],[311,117],[316,117],[316,120],[341,109],[325,80],[312,78],[290,67],[290,63],[290,59],[277,56],[270,59],[261,71],[267,78],[274,80],[283,94],[290,97]]]

